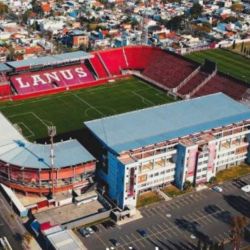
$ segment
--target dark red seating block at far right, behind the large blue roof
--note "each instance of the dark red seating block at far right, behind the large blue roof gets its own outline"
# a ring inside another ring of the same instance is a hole
[[[208,95],[217,92],[223,92],[232,98],[239,100],[246,92],[247,86],[238,83],[232,78],[217,74],[210,81],[207,82],[195,96]]]

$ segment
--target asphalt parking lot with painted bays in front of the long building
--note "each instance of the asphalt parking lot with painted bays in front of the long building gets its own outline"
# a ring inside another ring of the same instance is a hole
[[[113,246],[110,239],[120,243],[116,249],[149,250],[195,250],[198,238],[221,242],[230,235],[232,216],[250,218],[250,193],[240,189],[242,185],[250,184],[250,176],[241,179],[241,183],[221,185],[222,193],[206,189],[160,202],[140,209],[142,219],[111,228],[100,224],[99,232],[88,238],[79,237],[90,250],[110,249]],[[142,237],[138,229],[145,229],[147,236]]]

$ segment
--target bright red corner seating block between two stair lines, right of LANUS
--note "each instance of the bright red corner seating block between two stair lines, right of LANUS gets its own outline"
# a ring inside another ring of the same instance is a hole
[[[121,75],[121,69],[128,67],[122,49],[100,51],[99,55],[112,75]]]

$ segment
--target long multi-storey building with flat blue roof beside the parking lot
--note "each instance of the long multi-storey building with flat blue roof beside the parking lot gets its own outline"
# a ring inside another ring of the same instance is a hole
[[[248,158],[250,110],[212,94],[85,122],[106,149],[99,177],[117,204],[174,182],[207,182]]]

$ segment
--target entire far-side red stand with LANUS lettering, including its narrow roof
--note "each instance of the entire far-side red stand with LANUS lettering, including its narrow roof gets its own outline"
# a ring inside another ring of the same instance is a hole
[[[145,45],[77,51],[0,64],[0,98],[25,99],[135,75],[180,98],[222,91],[241,99],[247,84],[216,72],[215,63],[209,60],[198,65]]]

